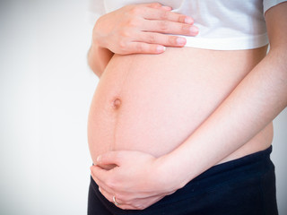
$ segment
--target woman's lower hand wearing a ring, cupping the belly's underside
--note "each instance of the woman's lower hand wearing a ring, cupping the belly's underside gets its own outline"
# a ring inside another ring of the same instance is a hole
[[[101,168],[105,165],[115,168]],[[91,167],[91,176],[109,202],[124,210],[143,210],[179,187],[161,159],[140,151],[109,151]]]

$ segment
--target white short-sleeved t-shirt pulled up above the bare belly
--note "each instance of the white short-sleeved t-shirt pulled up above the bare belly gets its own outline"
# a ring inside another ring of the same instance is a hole
[[[158,2],[171,6],[173,12],[186,14],[199,29],[187,39],[186,47],[215,50],[239,50],[263,47],[269,43],[265,12],[287,0],[90,0],[89,19],[115,11],[127,4]]]

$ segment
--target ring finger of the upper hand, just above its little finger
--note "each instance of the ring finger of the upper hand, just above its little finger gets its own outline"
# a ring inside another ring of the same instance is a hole
[[[136,38],[149,44],[160,44],[165,47],[184,47],[187,43],[187,39],[183,37],[151,32],[139,33]]]

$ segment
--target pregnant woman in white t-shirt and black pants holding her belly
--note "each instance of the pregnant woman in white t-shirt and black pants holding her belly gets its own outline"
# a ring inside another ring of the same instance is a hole
[[[283,2],[93,1],[89,214],[277,214]]]

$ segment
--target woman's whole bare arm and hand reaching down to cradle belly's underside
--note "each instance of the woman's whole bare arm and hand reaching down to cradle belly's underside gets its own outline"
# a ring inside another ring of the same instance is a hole
[[[238,150],[287,106],[286,10],[283,3],[265,13],[268,55],[186,142],[160,158],[131,150],[100,155],[91,176],[110,202],[115,195],[121,209],[147,208]],[[106,164],[117,167],[100,168]]]

